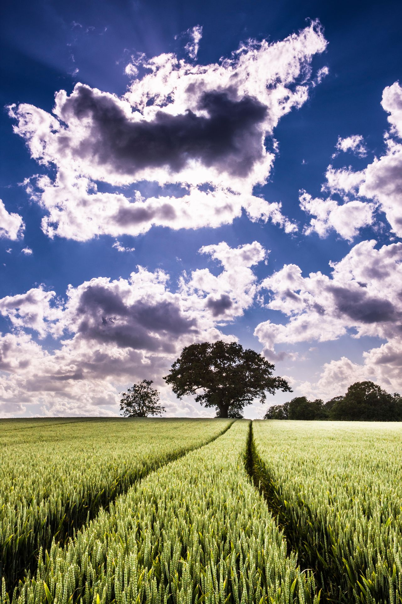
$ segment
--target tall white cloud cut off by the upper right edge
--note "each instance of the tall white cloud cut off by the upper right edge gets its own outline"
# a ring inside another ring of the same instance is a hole
[[[385,154],[374,158],[364,170],[340,170],[331,165],[326,173],[324,189],[372,200],[386,215],[392,230],[402,236],[402,88],[398,82],[383,91],[382,106],[389,113],[391,124],[385,134]]]

